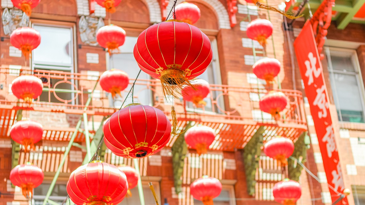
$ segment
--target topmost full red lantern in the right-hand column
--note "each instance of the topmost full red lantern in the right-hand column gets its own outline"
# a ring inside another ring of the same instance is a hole
[[[255,19],[247,25],[246,34],[252,40],[257,40],[261,46],[265,46],[266,39],[273,32],[273,24],[266,19]]]

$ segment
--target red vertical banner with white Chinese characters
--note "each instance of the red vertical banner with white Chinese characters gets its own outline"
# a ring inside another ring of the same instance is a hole
[[[343,193],[345,185],[328,108],[328,93],[324,83],[322,63],[319,61],[313,29],[309,20],[296,38],[294,49],[317,133],[328,186],[331,186],[329,188],[332,202],[334,202],[339,196],[332,188]],[[341,203],[348,204],[347,198],[343,198]]]

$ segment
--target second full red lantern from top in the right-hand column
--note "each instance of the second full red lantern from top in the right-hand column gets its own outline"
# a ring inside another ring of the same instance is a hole
[[[275,58],[262,58],[252,66],[253,73],[269,84],[280,72],[280,62]]]

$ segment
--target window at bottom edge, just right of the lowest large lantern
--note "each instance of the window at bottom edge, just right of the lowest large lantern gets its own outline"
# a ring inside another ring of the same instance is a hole
[[[153,188],[157,194],[157,198],[161,199],[160,194],[160,185],[158,182],[152,182]],[[142,188],[143,188],[143,197],[145,198],[145,205],[154,205],[156,204],[151,189],[148,185],[148,182],[142,181]],[[126,197],[119,205],[140,205],[141,201],[139,200],[139,193],[138,187],[134,187],[131,189],[132,197]],[[163,200],[161,200],[163,201]]]

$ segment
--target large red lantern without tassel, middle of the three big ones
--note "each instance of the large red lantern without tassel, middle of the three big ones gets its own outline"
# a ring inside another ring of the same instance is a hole
[[[124,158],[141,158],[160,151],[170,140],[171,124],[159,109],[130,104],[104,125],[105,145]]]

